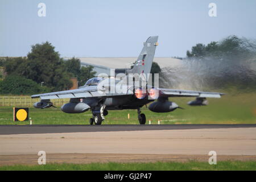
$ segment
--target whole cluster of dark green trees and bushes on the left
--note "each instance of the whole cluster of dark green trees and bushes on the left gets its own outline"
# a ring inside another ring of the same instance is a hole
[[[35,44],[26,57],[0,59],[5,72],[0,81],[0,94],[35,94],[71,88],[71,77],[77,77],[79,86],[94,77],[92,66],[81,67],[73,57],[64,61],[51,43]]]

